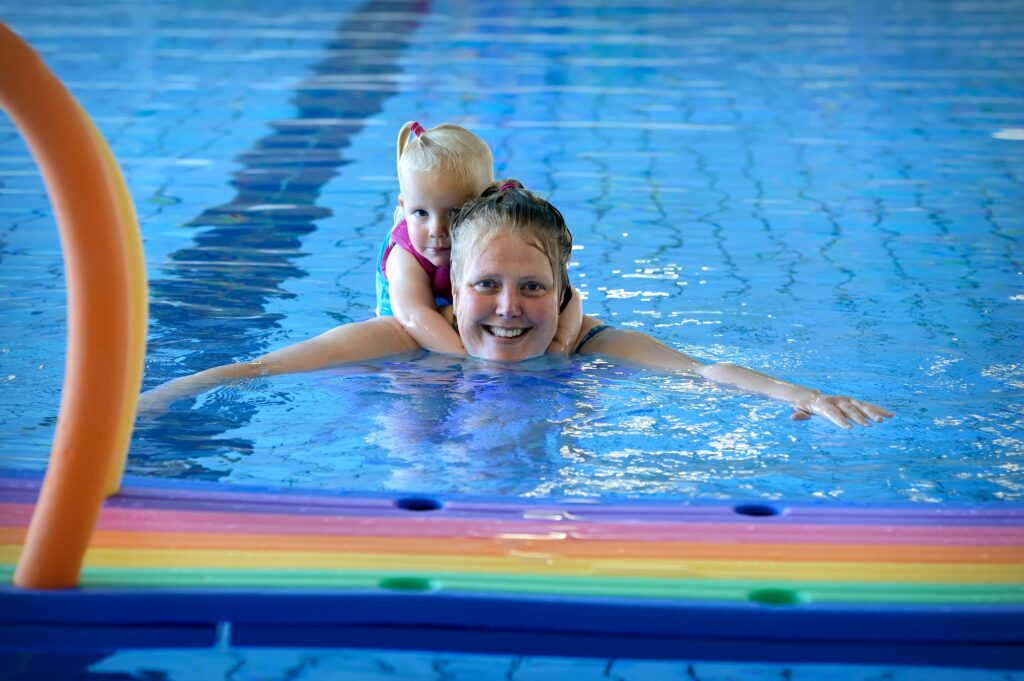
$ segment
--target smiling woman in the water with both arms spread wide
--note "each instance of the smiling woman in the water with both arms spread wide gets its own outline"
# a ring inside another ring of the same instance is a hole
[[[568,300],[572,237],[561,213],[515,180],[496,182],[466,204],[452,221],[453,326],[466,351],[495,361],[519,361],[544,354]],[[142,394],[139,411],[223,383],[332,365],[385,357],[419,345],[393,317],[336,327],[315,338],[274,350],[252,361],[215,367],[169,381]],[[774,379],[736,365],[703,365],[646,334],[613,329],[588,316],[574,353],[603,354],[652,369],[705,379],[790,402],[795,419],[818,414],[850,428],[892,414],[845,395]]]

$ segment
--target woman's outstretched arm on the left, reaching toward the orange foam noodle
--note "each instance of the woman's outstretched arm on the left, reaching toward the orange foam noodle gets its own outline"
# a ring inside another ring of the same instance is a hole
[[[138,412],[159,412],[178,399],[194,397],[231,381],[308,372],[347,361],[386,357],[418,347],[394,317],[353,322],[251,361],[214,367],[158,385],[139,396]]]

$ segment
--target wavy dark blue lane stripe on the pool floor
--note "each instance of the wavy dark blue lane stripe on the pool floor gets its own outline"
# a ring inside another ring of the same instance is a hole
[[[146,387],[265,349],[267,332],[281,318],[266,313],[266,305],[291,297],[282,285],[306,275],[299,263],[303,237],[316,229],[316,220],[332,214],[316,205],[321,190],[350,163],[343,152],[365,127],[360,122],[379,114],[397,93],[391,76],[400,73],[398,56],[426,8],[423,0],[372,0],[346,15],[326,46],[326,57],[296,87],[295,118],[271,124],[273,133],[238,157],[243,168],[232,176],[234,198],[187,223],[202,228],[195,245],[172,253],[163,278],[151,283],[150,350],[183,341],[195,350],[173,367],[151,361]],[[351,56],[367,53],[373,58]],[[346,77],[373,87],[330,87],[331,79],[343,82]],[[373,286],[372,280],[367,286]],[[130,470],[220,477],[226,471],[197,464],[196,458],[252,452],[252,442],[244,438],[218,436],[245,425],[254,413],[254,407],[238,402],[229,410],[174,411],[142,423]]]

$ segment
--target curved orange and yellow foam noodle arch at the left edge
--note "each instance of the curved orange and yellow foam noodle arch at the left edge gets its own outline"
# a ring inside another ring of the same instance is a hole
[[[100,505],[120,486],[145,354],[146,284],[131,197],[110,147],[39,55],[0,23],[0,108],[56,217],[68,350],[46,477],[14,585],[73,587]]]

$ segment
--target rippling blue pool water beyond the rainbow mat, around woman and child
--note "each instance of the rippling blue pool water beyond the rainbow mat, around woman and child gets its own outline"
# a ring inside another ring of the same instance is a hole
[[[369,315],[393,136],[418,118],[477,130],[500,174],[564,209],[587,311],[898,414],[844,433],[604,361],[494,372],[414,356],[215,391],[142,424],[129,472],[959,502],[1021,498],[1020,9],[42,3],[3,15],[127,173],[153,285],[147,385]],[[59,253],[34,167],[2,130],[0,463],[40,468],[61,375]]]

